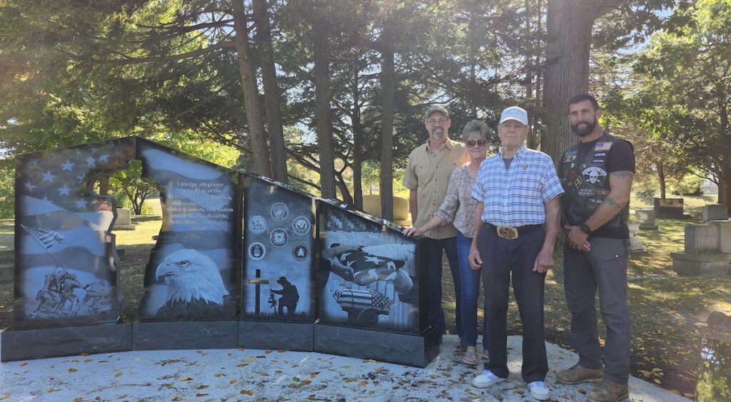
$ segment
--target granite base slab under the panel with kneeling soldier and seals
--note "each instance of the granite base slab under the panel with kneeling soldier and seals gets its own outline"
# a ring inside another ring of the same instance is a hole
[[[312,322],[239,321],[238,347],[312,352]]]

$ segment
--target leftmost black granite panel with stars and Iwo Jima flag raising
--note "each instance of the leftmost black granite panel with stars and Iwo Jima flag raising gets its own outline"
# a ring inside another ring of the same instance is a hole
[[[88,190],[95,174],[122,169],[132,139],[20,155],[15,183],[15,325],[114,322],[113,198]]]

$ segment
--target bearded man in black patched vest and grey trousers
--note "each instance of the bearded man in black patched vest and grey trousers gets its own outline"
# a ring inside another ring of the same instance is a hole
[[[569,121],[579,143],[564,152],[559,176],[562,198],[564,290],[571,312],[571,341],[579,355],[575,366],[558,372],[564,384],[599,382],[589,401],[621,401],[629,390],[629,306],[627,247],[629,194],[635,177],[632,144],[602,131],[602,110],[587,94],[569,101]],[[602,349],[596,330],[594,303],[607,326]]]

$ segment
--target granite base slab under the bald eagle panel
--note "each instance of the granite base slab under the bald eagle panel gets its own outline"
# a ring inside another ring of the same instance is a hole
[[[132,350],[235,349],[237,321],[134,322]]]

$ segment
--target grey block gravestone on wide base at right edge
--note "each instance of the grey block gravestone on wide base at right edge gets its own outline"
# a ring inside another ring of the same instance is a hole
[[[719,225],[686,225],[685,252],[671,252],[680,275],[731,274],[731,254],[719,250]]]

